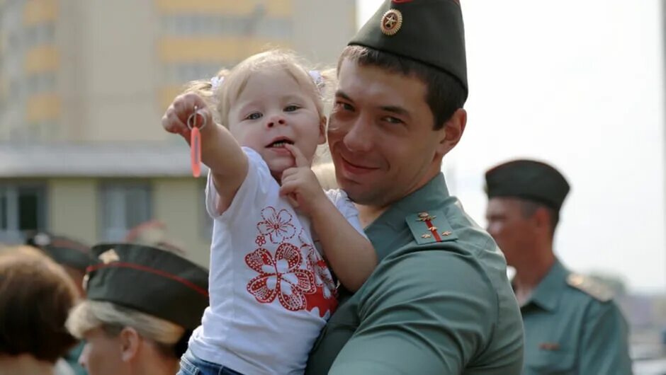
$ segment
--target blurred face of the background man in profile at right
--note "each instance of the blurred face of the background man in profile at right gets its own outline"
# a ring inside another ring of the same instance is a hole
[[[507,264],[515,267],[531,252],[534,243],[534,219],[525,217],[521,201],[509,197],[493,197],[485,212],[487,231],[507,258]]]

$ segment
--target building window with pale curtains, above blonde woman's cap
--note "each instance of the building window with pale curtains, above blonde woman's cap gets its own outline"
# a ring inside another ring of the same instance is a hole
[[[123,241],[130,229],[152,219],[147,184],[107,183],[102,185],[100,198],[103,241]]]

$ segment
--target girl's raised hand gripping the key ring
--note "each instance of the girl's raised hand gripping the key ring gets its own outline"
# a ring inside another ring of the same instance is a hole
[[[198,116],[194,117],[195,126],[201,127],[203,122],[213,123],[213,117],[210,115],[208,105],[196,93],[186,93],[176,96],[174,102],[166,109],[162,116],[162,127],[169,133],[181,134],[189,142],[190,129],[187,126],[187,119],[194,113],[194,107],[197,108]]]

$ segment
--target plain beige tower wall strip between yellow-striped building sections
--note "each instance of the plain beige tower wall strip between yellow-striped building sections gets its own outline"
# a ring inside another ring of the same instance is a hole
[[[162,140],[156,103],[159,62],[152,1],[77,0],[82,22],[83,139]],[[63,15],[64,16],[64,15]],[[72,67],[72,69],[80,69]],[[76,105],[74,103],[74,105]],[[137,129],[140,128],[140,129]]]

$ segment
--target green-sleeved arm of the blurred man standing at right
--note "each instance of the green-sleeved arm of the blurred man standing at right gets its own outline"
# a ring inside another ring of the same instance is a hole
[[[582,329],[580,374],[631,375],[628,328],[615,304],[589,306]]]

